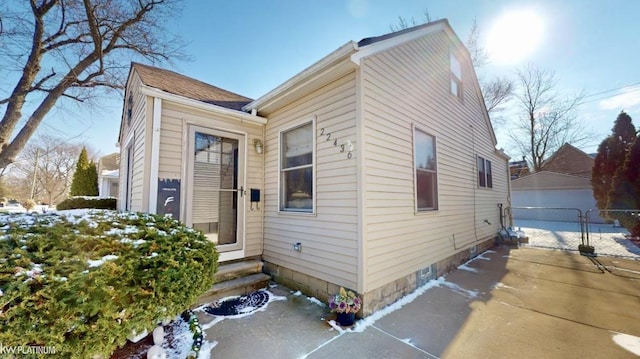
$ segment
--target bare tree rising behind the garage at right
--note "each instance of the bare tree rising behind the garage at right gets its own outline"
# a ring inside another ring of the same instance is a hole
[[[563,98],[556,90],[555,73],[532,65],[518,69],[516,76],[520,116],[511,138],[526,154],[533,170],[541,171],[547,157],[560,146],[580,146],[593,136],[577,122],[576,110],[584,93]]]

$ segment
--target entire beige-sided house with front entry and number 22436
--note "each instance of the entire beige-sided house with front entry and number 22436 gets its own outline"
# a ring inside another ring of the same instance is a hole
[[[365,316],[491,246],[510,200],[446,20],[348,42],[253,101],[133,64],[120,144],[121,209],[173,213],[320,299],[357,291]]]

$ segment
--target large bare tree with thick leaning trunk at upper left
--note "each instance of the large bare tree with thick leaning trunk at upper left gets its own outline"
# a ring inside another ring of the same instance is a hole
[[[3,10],[0,34],[0,168],[15,162],[60,100],[122,89],[129,61],[182,57],[164,29],[180,0],[29,0]],[[5,81],[0,86],[7,86]],[[6,98],[3,98],[6,95]],[[26,107],[25,107],[26,106]],[[25,111],[26,113],[23,113]]]

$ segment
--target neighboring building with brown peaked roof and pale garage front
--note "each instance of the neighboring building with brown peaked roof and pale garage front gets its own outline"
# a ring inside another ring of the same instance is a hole
[[[597,208],[591,186],[593,163],[585,152],[564,144],[543,162],[544,170],[511,181],[512,205],[577,208],[586,214]],[[601,220],[597,216],[592,219]]]

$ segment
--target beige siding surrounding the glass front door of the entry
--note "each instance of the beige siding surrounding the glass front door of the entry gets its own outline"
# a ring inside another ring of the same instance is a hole
[[[181,179],[183,167],[186,166],[185,158],[187,149],[188,124],[194,124],[214,130],[247,133],[246,138],[246,171],[245,189],[247,195],[242,197],[245,200],[245,256],[258,256],[262,254],[262,209],[250,209],[249,190],[251,188],[262,189],[263,185],[263,162],[262,156],[256,153],[253,147],[253,140],[262,140],[262,125],[240,122],[237,119],[225,119],[205,111],[188,109],[181,105],[176,105],[170,101],[162,101],[162,121],[160,125],[160,161],[158,178],[160,179]],[[181,179],[182,201],[188,201],[184,195],[185,180]],[[181,215],[184,216],[184,207]],[[184,217],[182,218],[184,220]]]

